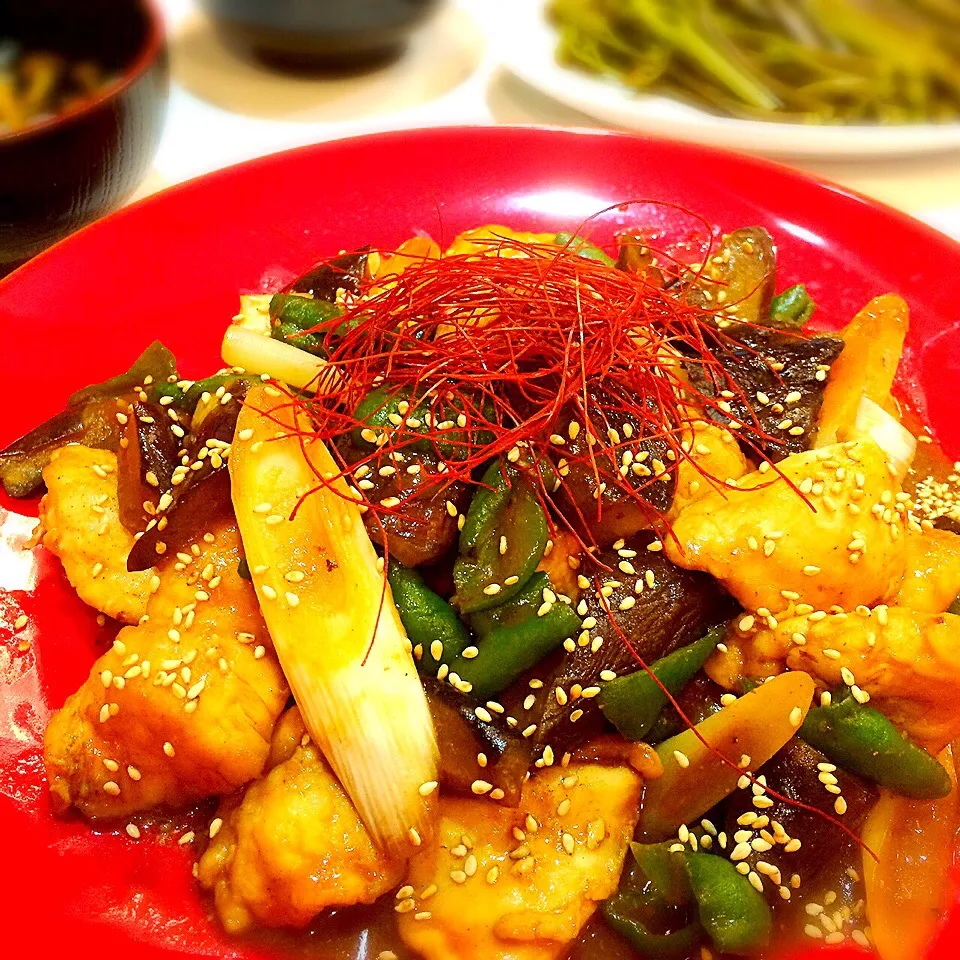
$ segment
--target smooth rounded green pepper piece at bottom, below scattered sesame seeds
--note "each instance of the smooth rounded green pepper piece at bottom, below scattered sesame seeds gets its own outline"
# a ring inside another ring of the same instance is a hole
[[[750,954],[770,939],[773,913],[763,895],[726,857],[687,853],[687,875],[700,923],[721,953]]]

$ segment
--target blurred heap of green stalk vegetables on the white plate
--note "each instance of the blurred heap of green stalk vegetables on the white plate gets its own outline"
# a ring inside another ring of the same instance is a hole
[[[960,115],[955,0],[550,0],[557,59],[723,116]]]

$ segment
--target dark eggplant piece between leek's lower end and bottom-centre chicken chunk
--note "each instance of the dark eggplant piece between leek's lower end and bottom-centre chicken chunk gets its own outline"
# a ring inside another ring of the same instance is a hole
[[[481,720],[476,702],[449,684],[425,678],[424,687],[440,748],[444,789],[472,796],[473,782],[485,780],[503,791],[504,806],[517,806],[533,758],[530,741],[503,714],[489,711],[490,721]],[[480,754],[485,766],[478,762]]]

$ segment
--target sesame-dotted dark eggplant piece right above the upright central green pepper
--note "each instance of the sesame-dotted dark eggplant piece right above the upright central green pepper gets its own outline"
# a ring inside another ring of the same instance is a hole
[[[572,406],[561,413],[558,433],[568,436],[573,421],[581,429],[557,450],[561,485],[555,497],[561,512],[586,542],[603,547],[653,526],[673,501],[676,476],[668,469],[666,441],[648,436],[637,416],[620,412],[634,407],[635,398],[596,389],[590,390],[588,398],[587,414],[594,433],[602,434],[603,444],[592,448],[591,459],[585,418]],[[611,441],[616,443],[615,449],[611,449]],[[621,473],[627,453],[633,461]],[[599,498],[598,489],[602,491]]]

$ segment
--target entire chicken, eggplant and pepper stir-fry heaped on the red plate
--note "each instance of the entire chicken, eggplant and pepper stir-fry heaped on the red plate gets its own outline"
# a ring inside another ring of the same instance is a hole
[[[0,453],[125,624],[47,728],[55,810],[208,811],[224,929],[355,917],[343,955],[920,957],[960,500],[891,392],[907,305],[811,333],[765,230],[678,257],[341,253],[242,297],[218,373],[154,343]]]

